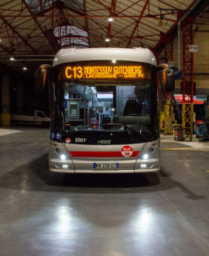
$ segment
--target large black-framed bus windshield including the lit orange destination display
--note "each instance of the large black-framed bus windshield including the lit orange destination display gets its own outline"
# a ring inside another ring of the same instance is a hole
[[[71,143],[79,144],[158,139],[156,68],[122,63],[114,72],[107,63],[57,68],[51,130],[67,133]]]

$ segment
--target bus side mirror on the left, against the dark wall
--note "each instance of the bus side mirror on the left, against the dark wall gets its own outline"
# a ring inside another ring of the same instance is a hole
[[[36,92],[43,92],[47,78],[49,76],[50,71],[49,64],[43,64],[39,67],[37,71],[35,71],[35,91]]]

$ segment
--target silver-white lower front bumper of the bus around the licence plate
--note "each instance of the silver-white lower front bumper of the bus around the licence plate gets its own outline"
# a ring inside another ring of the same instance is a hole
[[[153,146],[154,145],[154,146]],[[131,145],[132,146],[132,145]],[[136,145],[137,146],[137,145]],[[135,147],[136,147],[135,146]],[[113,145],[112,147],[115,147]],[[133,146],[132,146],[133,147]],[[153,148],[150,153],[150,147]],[[56,152],[59,148],[60,152]],[[49,166],[50,171],[60,173],[103,173],[103,174],[119,174],[119,173],[144,173],[159,171],[160,147],[159,140],[139,145],[140,152],[137,157],[70,157],[69,150],[65,144],[59,144],[50,140]],[[66,159],[61,160],[61,154],[66,156]],[[147,154],[148,159],[143,159],[143,155]],[[118,168],[94,168],[94,163],[111,163],[118,162]]]

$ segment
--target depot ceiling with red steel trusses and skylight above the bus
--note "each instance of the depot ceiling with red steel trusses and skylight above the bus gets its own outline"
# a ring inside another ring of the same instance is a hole
[[[1,0],[0,63],[15,69],[49,63],[66,47],[149,47],[182,16],[201,17],[204,0]],[[196,10],[196,12],[191,12]],[[114,19],[108,22],[109,18]],[[208,19],[207,19],[208,22]],[[106,42],[107,38],[110,40]],[[10,61],[13,57],[14,61]]]

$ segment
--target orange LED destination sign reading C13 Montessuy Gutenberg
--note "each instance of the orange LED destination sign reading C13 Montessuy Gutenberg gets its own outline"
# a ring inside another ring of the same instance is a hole
[[[142,66],[67,66],[65,77],[69,79],[120,79],[145,78]]]

